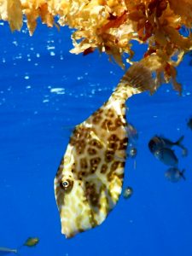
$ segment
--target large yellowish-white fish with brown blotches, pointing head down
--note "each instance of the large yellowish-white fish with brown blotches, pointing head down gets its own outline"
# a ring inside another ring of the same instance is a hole
[[[119,200],[128,143],[125,101],[154,90],[151,73],[134,64],[112,96],[73,131],[55,176],[61,233],[72,237],[102,224]]]

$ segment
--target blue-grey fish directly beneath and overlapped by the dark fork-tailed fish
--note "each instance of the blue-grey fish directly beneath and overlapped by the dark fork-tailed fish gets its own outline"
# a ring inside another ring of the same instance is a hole
[[[177,166],[177,156],[171,148],[157,149],[154,151],[154,156],[166,166]]]

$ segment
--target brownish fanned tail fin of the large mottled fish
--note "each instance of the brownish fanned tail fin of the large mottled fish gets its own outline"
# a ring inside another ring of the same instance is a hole
[[[135,88],[137,90],[149,90],[150,93],[154,93],[156,86],[154,79],[152,78],[152,73],[148,67],[143,66],[143,64],[137,62],[134,63],[128,71],[125,73],[120,83]]]

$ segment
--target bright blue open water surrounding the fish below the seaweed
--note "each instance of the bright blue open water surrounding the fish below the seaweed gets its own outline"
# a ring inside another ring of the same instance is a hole
[[[18,247],[28,236],[38,246],[27,256],[189,256],[192,255],[192,114],[189,56],[178,67],[183,96],[163,85],[154,96],[133,96],[128,120],[137,127],[137,168],[125,166],[121,196],[99,227],[67,240],[61,235],[53,181],[73,127],[108,99],[123,70],[108,56],[72,55],[67,28],[38,25],[32,37],[11,33],[0,23],[0,247]],[[146,46],[134,45],[136,59]],[[58,89],[59,88],[59,89]],[[154,134],[177,140],[184,135],[189,155],[176,149],[186,181],[170,183],[167,167],[148,150]]]

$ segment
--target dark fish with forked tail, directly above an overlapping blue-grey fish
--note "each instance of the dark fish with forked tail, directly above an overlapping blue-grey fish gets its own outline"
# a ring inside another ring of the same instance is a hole
[[[154,153],[157,149],[160,148],[172,148],[173,146],[177,146],[183,149],[183,155],[187,155],[187,148],[184,148],[183,136],[180,137],[176,142],[172,142],[171,140],[167,139],[166,137],[154,136],[148,143],[149,150]]]

